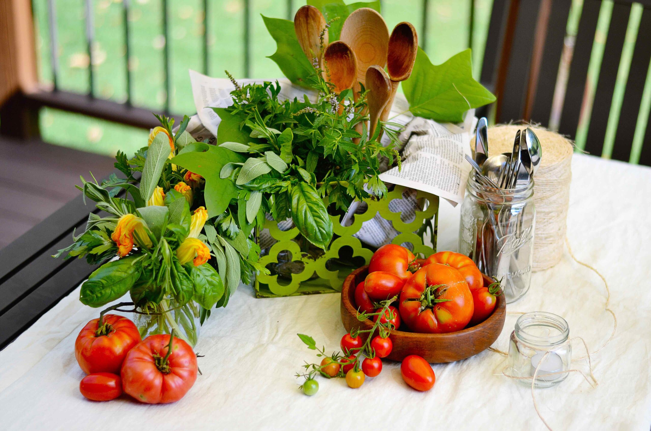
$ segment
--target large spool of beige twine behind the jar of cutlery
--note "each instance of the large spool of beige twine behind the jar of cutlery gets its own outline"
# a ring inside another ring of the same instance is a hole
[[[527,125],[499,125],[488,129],[488,156],[510,153],[518,130]],[[534,176],[536,233],[533,271],[546,270],[561,260],[570,202],[572,143],[555,132],[531,127],[542,146],[542,159]],[[474,148],[475,139],[471,140]]]

